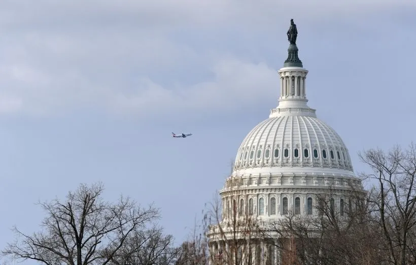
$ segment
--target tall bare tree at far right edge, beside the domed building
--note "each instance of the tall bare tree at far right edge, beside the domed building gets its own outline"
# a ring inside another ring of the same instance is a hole
[[[361,176],[376,182],[370,200],[384,236],[380,253],[387,252],[386,259],[393,264],[414,262],[416,145],[411,143],[406,150],[395,146],[387,153],[369,149],[359,157],[373,170]]]

